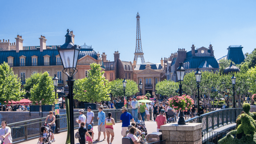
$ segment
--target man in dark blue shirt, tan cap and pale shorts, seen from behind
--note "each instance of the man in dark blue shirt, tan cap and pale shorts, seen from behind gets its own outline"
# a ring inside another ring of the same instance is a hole
[[[122,115],[120,116],[120,122],[122,122],[122,136],[126,136],[126,131],[128,130],[128,126],[130,125],[130,120],[133,120],[132,115],[127,112],[126,107],[122,107]]]

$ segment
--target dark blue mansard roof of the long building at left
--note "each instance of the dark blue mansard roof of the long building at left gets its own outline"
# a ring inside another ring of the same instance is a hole
[[[45,55],[49,55],[49,65],[56,65],[56,55],[58,55],[59,52],[57,49],[46,49],[43,50],[43,52],[40,52],[40,49],[36,50],[20,50],[19,52],[16,51],[0,51],[0,63],[8,62],[9,56],[14,57],[13,58],[13,66],[18,67],[20,66],[20,56],[25,56],[25,66],[32,66],[32,56],[36,55],[37,58],[37,66],[44,66],[44,57]],[[80,49],[78,59],[81,59],[85,55],[89,55],[94,59],[98,59],[97,53],[93,49]]]

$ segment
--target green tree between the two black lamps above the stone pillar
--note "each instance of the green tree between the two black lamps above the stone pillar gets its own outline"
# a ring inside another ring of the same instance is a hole
[[[183,78],[182,89],[191,96],[192,99],[196,99],[195,95],[197,95],[197,84],[196,84],[196,76],[195,72],[186,73]]]

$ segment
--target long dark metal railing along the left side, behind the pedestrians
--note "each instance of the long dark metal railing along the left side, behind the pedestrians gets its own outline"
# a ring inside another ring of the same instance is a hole
[[[94,112],[94,118],[93,122],[94,125],[98,125],[98,112],[99,110],[92,110]],[[120,116],[122,114],[122,111],[120,109],[103,109],[103,111],[108,115],[108,112],[112,113],[112,118],[115,119],[115,122],[120,121]],[[84,112],[84,115],[86,116],[86,112]],[[128,109],[127,112],[132,113],[132,109]],[[150,110],[150,115],[151,110]],[[56,118],[56,121],[59,121],[60,125],[60,132],[67,130],[67,114],[59,115],[60,118]],[[78,128],[78,123],[75,122],[76,118],[78,118],[79,112],[74,113],[74,128]],[[151,116],[150,116],[151,117]],[[37,118],[33,120],[27,120],[17,123],[8,124],[8,126],[11,128],[11,135],[12,135],[12,141],[19,142],[24,141],[28,139],[33,139],[41,134],[40,127],[44,124],[46,117]],[[1,126],[0,126],[1,128]],[[57,128],[57,127],[56,127]]]

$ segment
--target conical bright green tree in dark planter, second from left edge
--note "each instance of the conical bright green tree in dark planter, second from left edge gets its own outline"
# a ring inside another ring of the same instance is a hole
[[[30,89],[30,93],[30,100],[33,103],[40,102],[42,105],[52,105],[55,99],[52,77],[44,72],[39,78],[39,83]]]

